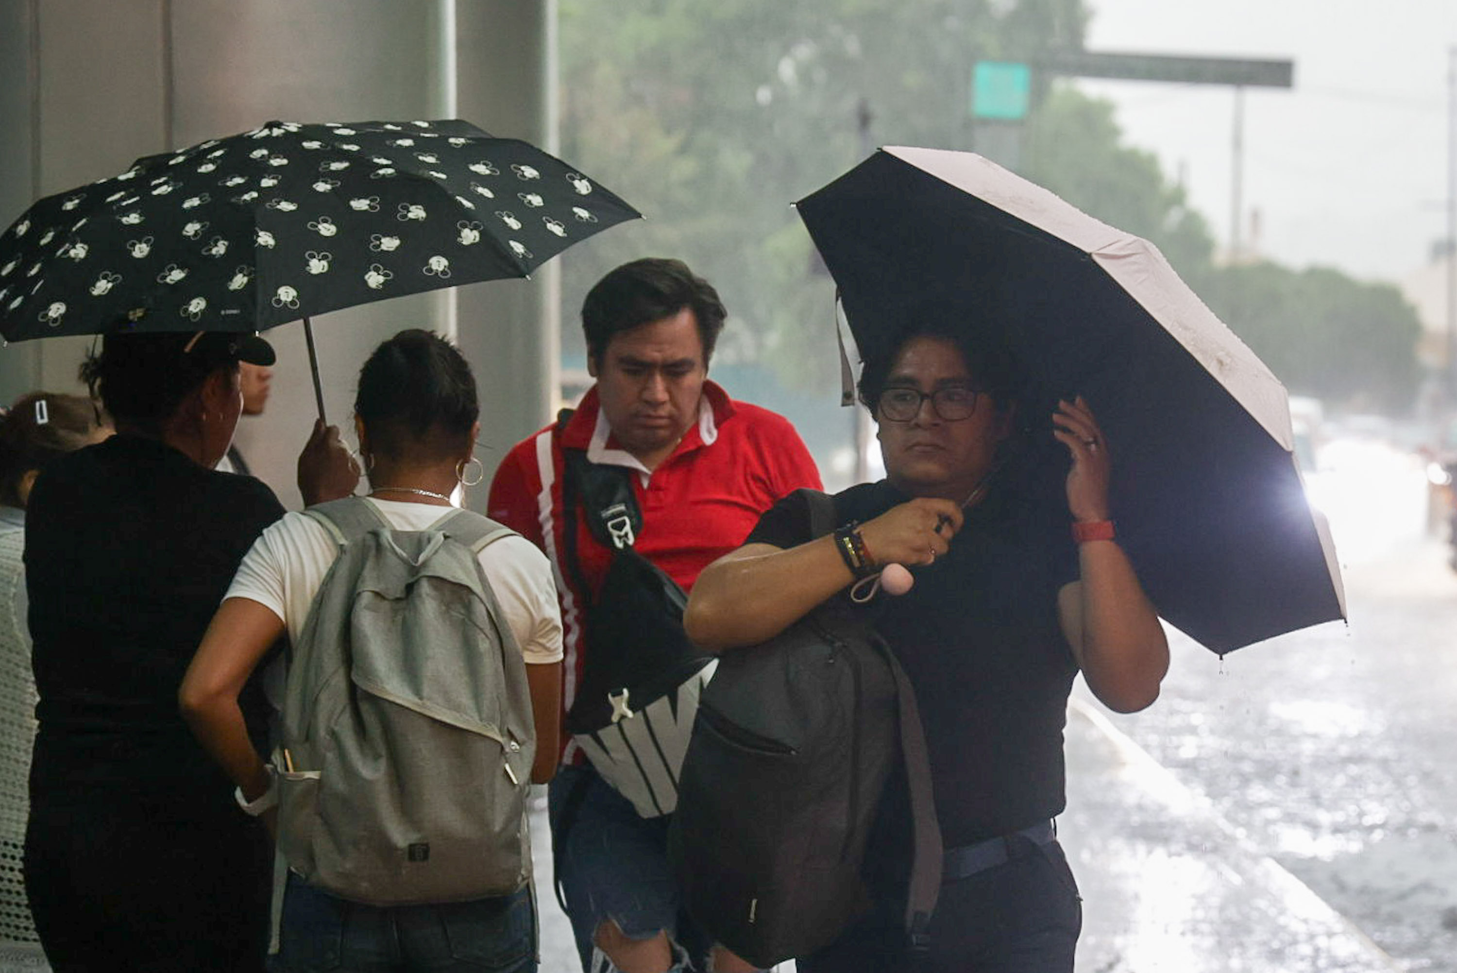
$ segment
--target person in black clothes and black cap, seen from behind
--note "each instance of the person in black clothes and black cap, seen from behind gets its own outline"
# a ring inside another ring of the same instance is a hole
[[[283,514],[219,473],[252,335],[108,335],[83,366],[117,436],[51,463],[26,519],[39,731],[25,872],[57,973],[261,970],[271,851],[178,712],[237,562]],[[246,709],[259,744],[265,704]]]

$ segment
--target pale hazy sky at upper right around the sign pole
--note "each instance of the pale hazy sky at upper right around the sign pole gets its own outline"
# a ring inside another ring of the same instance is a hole
[[[1448,51],[1457,0],[1088,0],[1093,51],[1272,57],[1295,87],[1244,93],[1244,213],[1284,264],[1400,280],[1445,235]],[[1234,93],[1080,82],[1129,143],[1180,169],[1228,240]]]

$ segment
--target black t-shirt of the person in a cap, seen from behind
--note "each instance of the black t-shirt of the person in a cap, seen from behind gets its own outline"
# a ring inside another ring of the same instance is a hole
[[[47,466],[25,540],[41,696],[34,803],[236,816],[176,692],[243,554],[281,516],[262,482],[143,437],[114,436]],[[256,682],[239,704],[262,743]]]

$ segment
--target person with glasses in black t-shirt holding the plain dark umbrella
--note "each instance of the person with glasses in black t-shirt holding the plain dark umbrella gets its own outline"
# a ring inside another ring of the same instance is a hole
[[[1169,667],[1157,615],[1113,540],[1107,444],[1091,411],[1061,402],[1050,422],[1072,460],[1074,549],[1068,519],[1037,513],[1050,475],[1018,476],[1007,459],[1014,376],[997,350],[908,329],[860,382],[887,478],[835,497],[835,536],[810,537],[801,497],[779,501],[704,571],[685,616],[705,648],[755,645],[857,578],[916,568],[908,593],[864,610],[906,670],[925,727],[947,848],[931,970],[1072,969],[1081,907],[1052,827],[1068,692],[1081,670],[1104,705],[1132,712],[1157,698]],[[800,970],[905,969],[896,900],[908,852],[896,839],[906,814],[886,801],[871,840],[879,907]]]

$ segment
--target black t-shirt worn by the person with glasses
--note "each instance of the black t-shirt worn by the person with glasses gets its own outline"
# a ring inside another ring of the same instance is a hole
[[[884,481],[851,486],[835,497],[836,523],[864,523],[906,500]],[[1078,568],[1067,524],[1046,521],[994,492],[967,511],[946,556],[915,570],[908,594],[881,593],[863,609],[915,688],[949,848],[1048,820],[1065,804],[1062,728],[1077,666],[1056,599]],[[809,539],[809,505],[791,494],[746,543]]]

